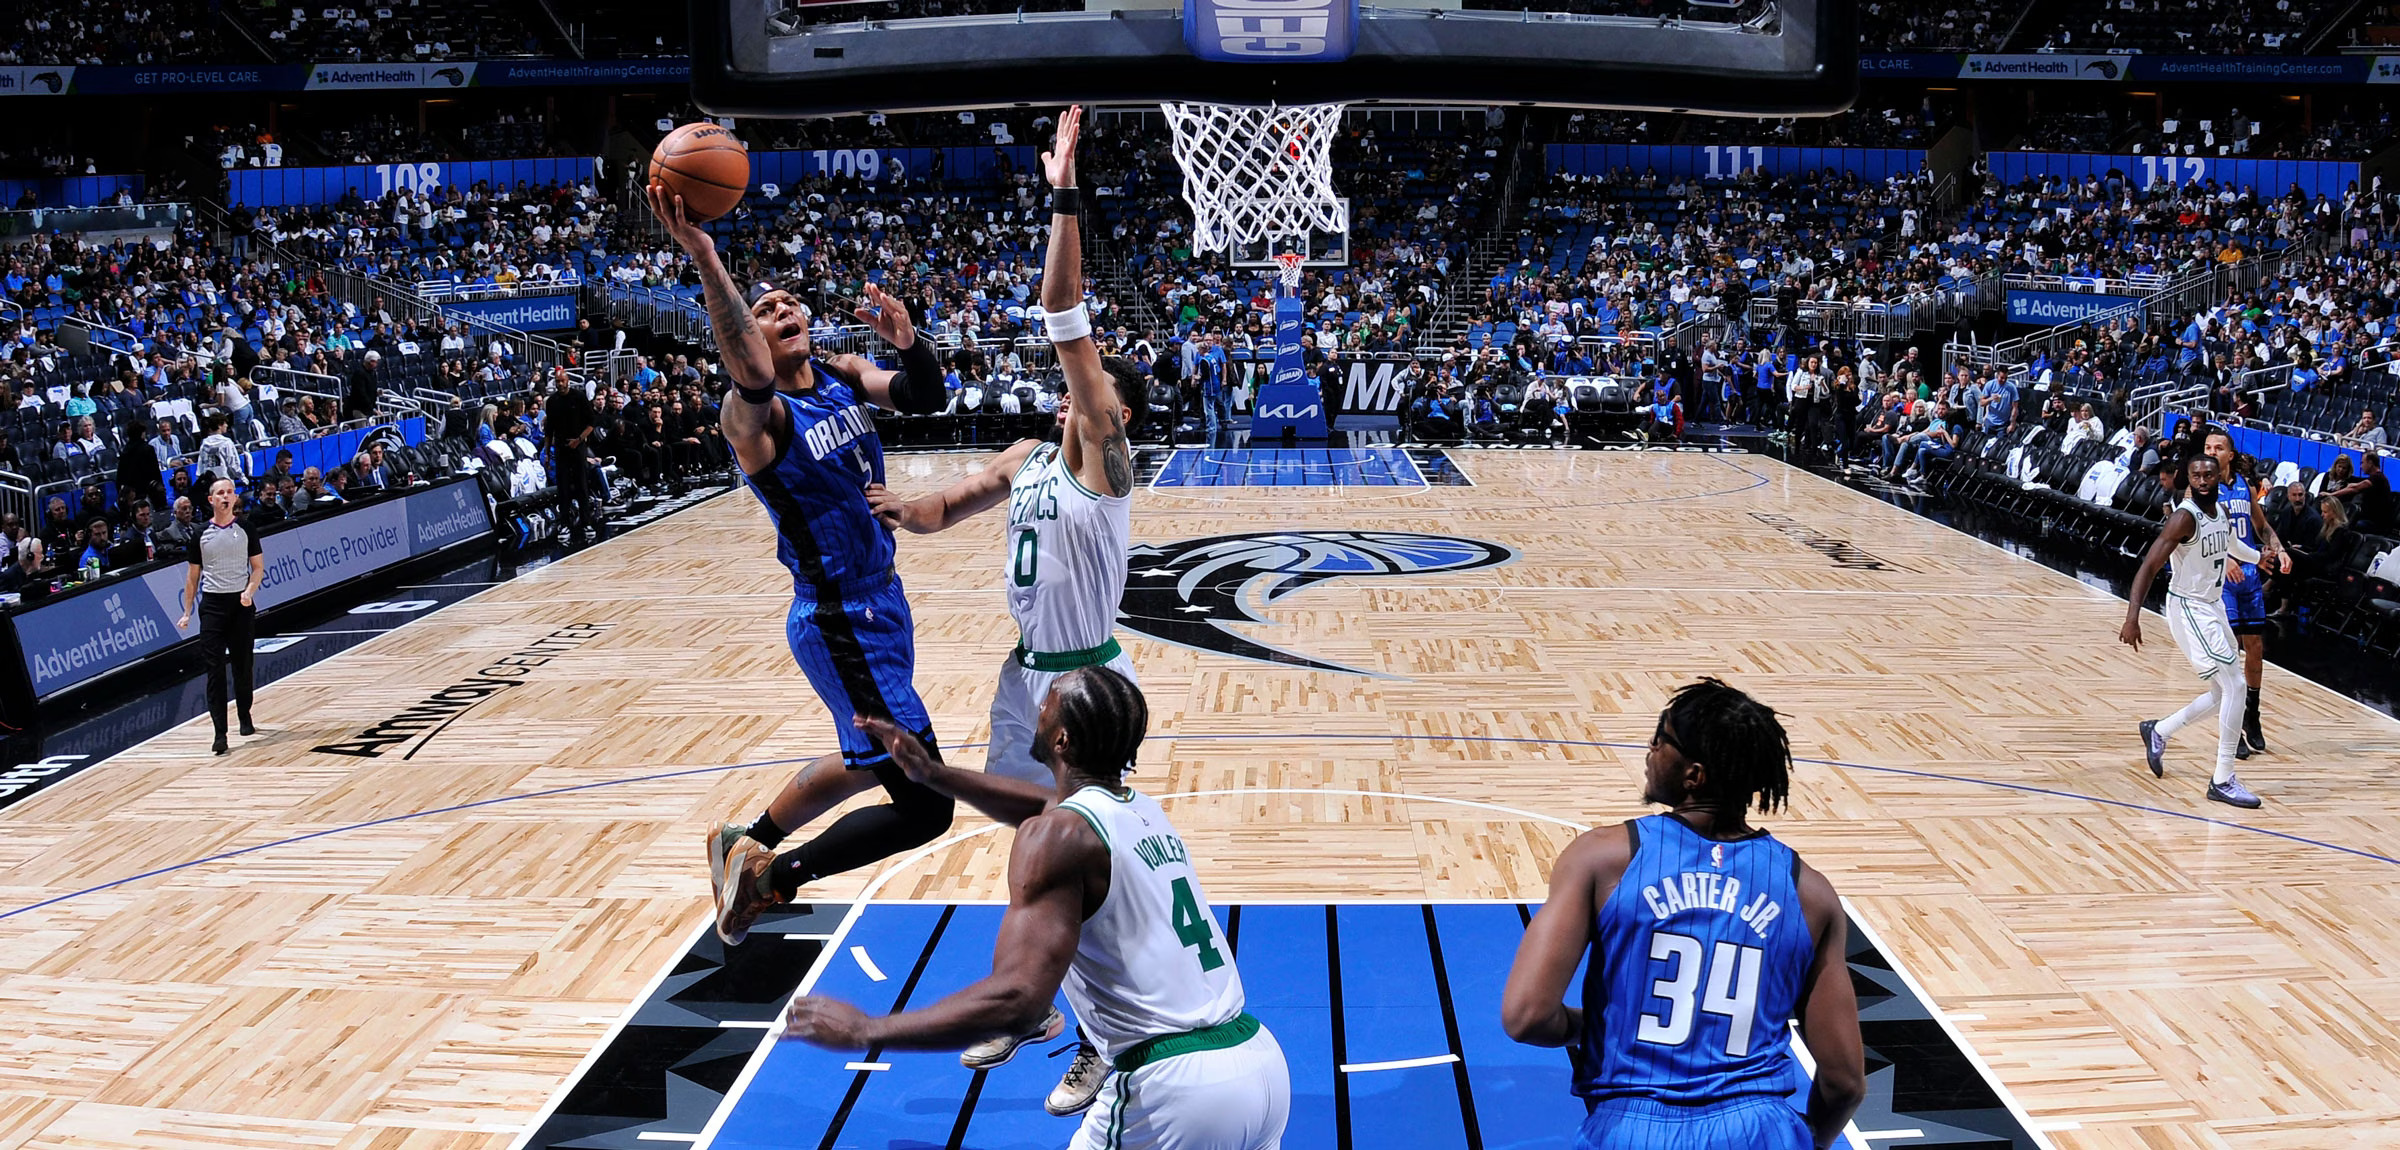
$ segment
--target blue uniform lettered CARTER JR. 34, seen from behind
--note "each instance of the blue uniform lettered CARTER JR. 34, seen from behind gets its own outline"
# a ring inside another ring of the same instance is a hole
[[[1584,972],[1577,1148],[1810,1150],[1790,1018],[1814,960],[1800,857],[1769,833],[1718,843],[1670,814],[1630,826]]]

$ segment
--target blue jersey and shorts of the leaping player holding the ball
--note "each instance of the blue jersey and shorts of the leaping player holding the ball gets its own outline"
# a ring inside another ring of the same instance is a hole
[[[792,569],[785,639],[809,687],[833,711],[842,763],[888,763],[850,715],[883,715],[934,747],[917,699],[917,624],[893,571],[893,533],[866,507],[883,483],[883,439],[857,387],[814,365],[816,389],[778,391],[792,415],[775,463],[744,475],[775,521],[775,557]]]

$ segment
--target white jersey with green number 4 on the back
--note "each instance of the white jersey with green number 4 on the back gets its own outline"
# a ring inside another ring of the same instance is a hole
[[[1063,987],[1099,1054],[1231,1023],[1243,1011],[1234,948],[1159,799],[1082,787],[1061,807],[1090,819],[1109,845],[1109,898],[1082,922]]]

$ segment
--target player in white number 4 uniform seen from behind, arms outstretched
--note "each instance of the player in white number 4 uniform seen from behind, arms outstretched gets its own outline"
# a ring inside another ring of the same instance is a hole
[[[941,766],[905,730],[859,718],[907,778],[1018,828],[1008,912],[982,982],[883,1018],[840,999],[794,999],[785,1037],[869,1059],[958,1049],[1025,1032],[1063,989],[1116,1071],[1073,1150],[1282,1145],[1291,1114],[1284,1049],[1243,1011],[1234,953],[1166,811],[1123,780],[1147,725],[1150,706],[1123,675],[1066,672],[1042,701],[1032,756],[1051,780],[1034,785]]]

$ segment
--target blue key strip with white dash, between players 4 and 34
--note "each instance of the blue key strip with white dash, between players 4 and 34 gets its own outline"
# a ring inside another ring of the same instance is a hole
[[[1342,1028],[1349,1066],[1442,1059],[1428,1066],[1349,1071],[1351,1145],[1464,1145],[1466,1119],[1447,1061],[1442,999],[1433,982],[1426,917],[1414,903],[1334,908],[1342,948]]]

